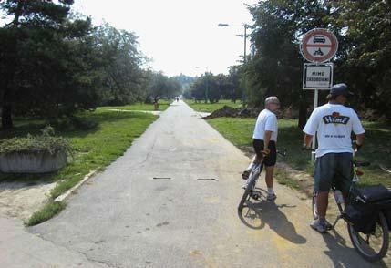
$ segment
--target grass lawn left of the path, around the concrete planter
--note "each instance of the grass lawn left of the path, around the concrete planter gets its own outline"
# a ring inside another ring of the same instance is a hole
[[[46,207],[32,216],[29,225],[44,222],[64,208],[64,204],[53,200],[72,188],[91,170],[104,170],[111,162],[117,160],[126,149],[138,138],[152,123],[156,116],[146,113],[124,113],[98,109],[94,112],[84,112],[77,116],[98,122],[96,129],[90,130],[61,130],[57,135],[69,139],[75,149],[73,160],[66,168],[54,173],[24,175],[0,173],[0,181],[28,181],[36,180],[48,182],[59,181],[57,187],[50,194],[50,202]],[[45,124],[43,121],[15,120],[15,129],[0,131],[0,139],[10,137],[23,137],[27,133],[38,133]]]

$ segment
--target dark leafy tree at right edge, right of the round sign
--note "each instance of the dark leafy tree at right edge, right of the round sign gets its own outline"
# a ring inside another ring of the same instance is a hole
[[[343,53],[336,78],[355,92],[356,104],[391,119],[391,5],[389,1],[333,1],[333,23]]]

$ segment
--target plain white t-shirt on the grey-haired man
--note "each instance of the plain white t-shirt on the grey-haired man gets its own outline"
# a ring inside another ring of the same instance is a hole
[[[277,141],[278,125],[277,117],[273,112],[268,109],[263,109],[258,115],[257,122],[255,123],[254,133],[252,139],[262,139],[265,131],[273,131],[270,140]]]

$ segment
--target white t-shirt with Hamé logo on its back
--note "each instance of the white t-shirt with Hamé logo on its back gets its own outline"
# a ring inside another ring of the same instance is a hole
[[[340,104],[324,104],[315,108],[303,131],[308,135],[317,132],[319,143],[316,157],[326,153],[353,153],[350,135],[363,134],[365,130],[352,108]]]

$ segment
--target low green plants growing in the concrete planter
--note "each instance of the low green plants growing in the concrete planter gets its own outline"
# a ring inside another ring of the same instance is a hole
[[[26,138],[12,138],[0,141],[0,154],[27,151],[47,151],[55,154],[65,150],[72,154],[73,149],[67,139],[54,137],[54,129],[47,126],[42,129],[42,135],[33,136],[28,134]]]

